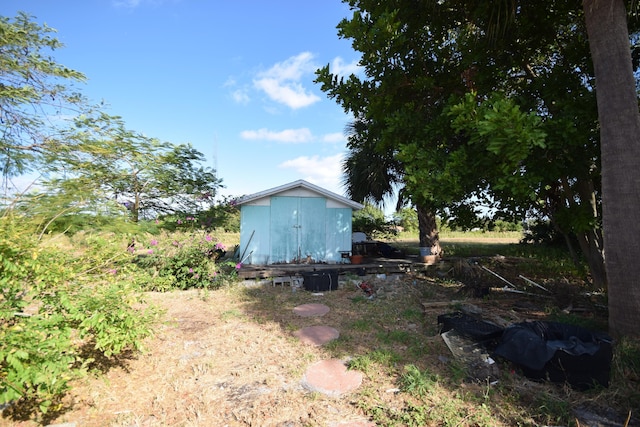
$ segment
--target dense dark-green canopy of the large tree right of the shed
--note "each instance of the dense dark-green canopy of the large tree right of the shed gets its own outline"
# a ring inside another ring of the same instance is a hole
[[[550,218],[606,283],[593,73],[578,4],[351,0],[338,25],[365,75],[318,71],[375,130],[414,203],[470,226],[478,215]],[[540,13],[545,10],[545,13]],[[371,138],[350,138],[351,150]],[[369,149],[369,148],[366,148]]]

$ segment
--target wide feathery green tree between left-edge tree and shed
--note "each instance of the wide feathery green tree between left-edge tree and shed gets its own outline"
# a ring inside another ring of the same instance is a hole
[[[119,117],[80,116],[49,160],[51,193],[126,207],[131,219],[196,213],[213,206],[221,180],[190,144],[125,128]]]

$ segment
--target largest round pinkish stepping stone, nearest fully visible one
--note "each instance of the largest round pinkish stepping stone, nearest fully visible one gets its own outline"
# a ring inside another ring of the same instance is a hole
[[[330,397],[340,397],[360,387],[362,377],[362,372],[348,371],[341,360],[322,360],[307,368],[302,386]]]

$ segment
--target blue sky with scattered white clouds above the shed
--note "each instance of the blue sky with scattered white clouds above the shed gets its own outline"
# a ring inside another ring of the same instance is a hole
[[[340,0],[2,0],[55,28],[57,62],[84,73],[82,92],[127,128],[191,143],[221,195],[305,179],[344,195],[349,117],[314,71],[358,72],[338,38]]]

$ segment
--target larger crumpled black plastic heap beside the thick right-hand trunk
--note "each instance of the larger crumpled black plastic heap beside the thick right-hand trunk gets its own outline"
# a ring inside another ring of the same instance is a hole
[[[506,328],[495,355],[515,363],[534,380],[566,382],[576,389],[609,386],[612,340],[558,322],[523,322]]]

